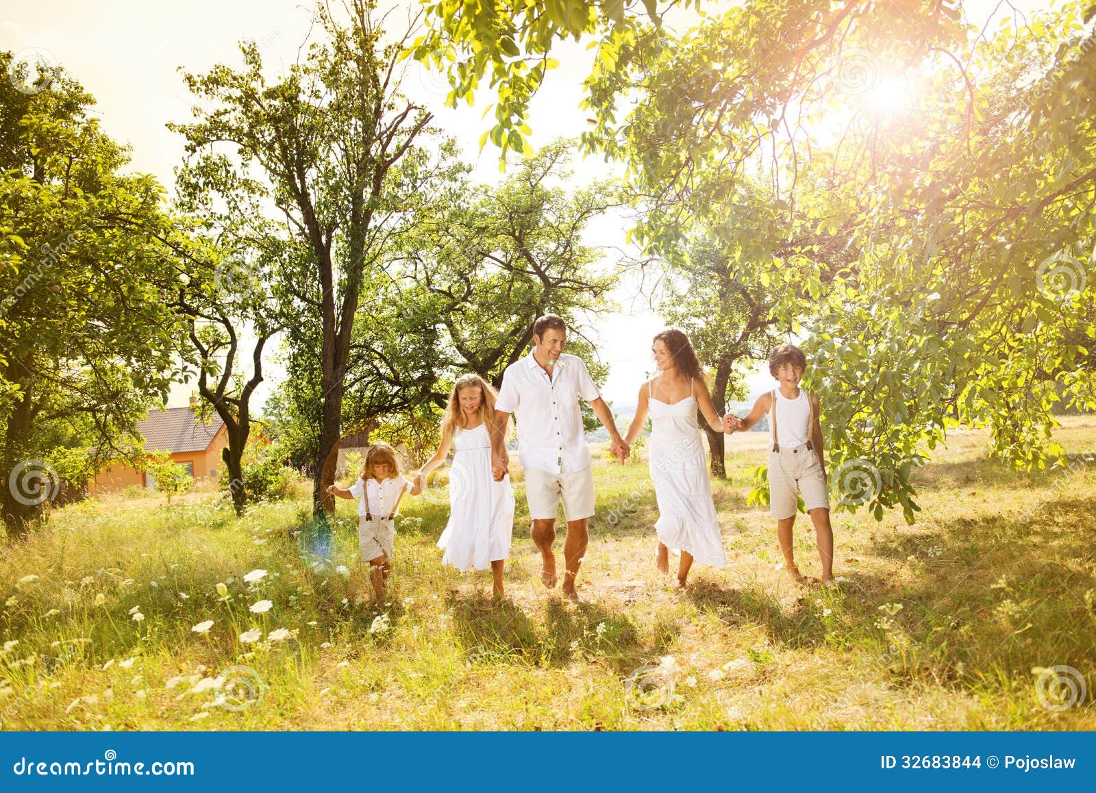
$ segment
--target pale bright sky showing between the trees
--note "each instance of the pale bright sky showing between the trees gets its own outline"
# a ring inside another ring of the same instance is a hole
[[[968,19],[981,25],[997,4],[996,0],[975,0],[964,3],[964,8]],[[1048,3],[1013,0],[1012,4],[1030,15]],[[259,42],[264,62],[276,76],[297,59],[310,27],[311,8],[300,0],[0,0],[0,48],[16,53],[30,47],[47,50],[96,97],[98,114],[106,131],[133,147],[130,168],[156,175],[171,192],[172,169],[181,161],[183,148],[181,137],[164,124],[190,117],[187,91],[176,68],[206,71],[218,62],[240,66],[237,44],[250,38]],[[1003,7],[998,14],[1005,12],[1012,13]],[[397,12],[391,19],[402,21],[406,16]],[[552,55],[560,60],[560,67],[550,72],[530,106],[534,146],[560,136],[576,136],[586,128],[587,114],[578,105],[590,54],[584,44],[568,43]],[[447,90],[439,76],[415,64],[409,67],[404,92],[427,102],[435,113],[435,124],[453,135],[463,146],[465,158],[475,163],[477,179],[498,180],[496,151],[490,146],[482,153],[478,151],[479,137],[489,124],[481,116],[490,95],[479,96],[475,107],[453,110],[442,104]],[[580,182],[610,173],[597,158],[575,165]],[[606,248],[606,264],[614,261],[613,249],[623,245],[625,228],[624,218],[607,214],[589,229],[587,242]],[[665,325],[650,311],[647,296],[638,291],[635,280],[623,281],[615,298],[621,311],[595,323],[595,341],[602,359],[610,365],[604,395],[618,407],[627,407],[635,403],[639,384],[652,368],[650,338]],[[273,364],[267,364],[265,371],[266,382],[256,394],[260,400],[284,376]],[[767,371],[758,366],[750,379],[751,398],[770,383]],[[185,404],[192,389],[180,384],[172,391],[169,405]]]

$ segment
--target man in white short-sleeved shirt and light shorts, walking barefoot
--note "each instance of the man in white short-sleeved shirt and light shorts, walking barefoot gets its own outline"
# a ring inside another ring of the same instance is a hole
[[[594,479],[590,449],[583,438],[579,396],[594,409],[608,430],[613,453],[621,462],[629,448],[620,437],[609,406],[581,358],[563,354],[567,324],[556,314],[533,323],[533,352],[511,364],[502,377],[491,428],[491,467],[501,480],[510,463],[504,438],[511,413],[517,416],[517,448],[525,471],[525,495],[533,519],[533,542],[540,549],[540,579],[556,586],[556,515],[560,499],[567,520],[563,543],[563,594],[574,597],[579,565],[586,552],[586,519],[594,514]]]

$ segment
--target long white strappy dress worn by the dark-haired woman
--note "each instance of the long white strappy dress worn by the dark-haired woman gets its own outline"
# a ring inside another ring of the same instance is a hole
[[[701,564],[724,565],[727,552],[711,498],[696,398],[666,403],[650,396],[650,468],[659,520],[659,541],[688,552]]]

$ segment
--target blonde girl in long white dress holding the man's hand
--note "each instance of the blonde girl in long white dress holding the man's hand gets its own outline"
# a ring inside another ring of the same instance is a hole
[[[510,475],[491,473],[491,436],[498,394],[479,375],[464,375],[453,386],[442,420],[442,443],[422,467],[427,474],[456,448],[449,469],[449,521],[437,541],[443,564],[458,570],[491,568],[494,597],[504,595],[502,572],[514,531],[514,491]]]

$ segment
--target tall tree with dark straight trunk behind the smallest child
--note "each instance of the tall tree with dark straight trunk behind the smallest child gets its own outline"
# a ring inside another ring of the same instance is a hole
[[[313,512],[333,508],[323,493],[324,461],[341,437],[346,367],[363,280],[383,258],[386,240],[409,212],[425,174],[404,157],[432,116],[399,92],[407,38],[385,44],[372,0],[347,4],[341,23],[317,5],[323,39],[267,83],[254,43],[241,45],[244,70],[224,65],[185,74],[195,95],[218,105],[192,124],[172,125],[187,153],[210,145],[233,150],[240,179],[284,223],[300,255],[278,275],[276,290],[290,343],[319,349],[319,440],[312,473]],[[328,479],[330,481],[330,478]]]

